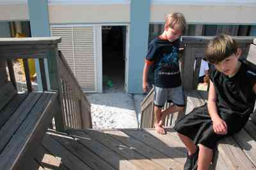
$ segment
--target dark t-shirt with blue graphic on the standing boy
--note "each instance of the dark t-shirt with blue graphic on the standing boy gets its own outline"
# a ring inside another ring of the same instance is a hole
[[[146,56],[154,61],[152,72],[153,84],[160,88],[176,88],[181,85],[179,69],[179,39],[174,42],[154,38],[148,46]],[[149,73],[150,74],[150,73]]]

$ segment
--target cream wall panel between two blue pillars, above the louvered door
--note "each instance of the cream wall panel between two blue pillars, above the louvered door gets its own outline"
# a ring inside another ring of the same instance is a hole
[[[49,21],[58,23],[129,22],[129,4],[49,5]]]

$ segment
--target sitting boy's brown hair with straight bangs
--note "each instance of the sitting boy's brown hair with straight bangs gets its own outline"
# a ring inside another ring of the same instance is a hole
[[[228,35],[218,35],[211,40],[205,49],[205,58],[209,63],[220,63],[236,54],[237,43]]]

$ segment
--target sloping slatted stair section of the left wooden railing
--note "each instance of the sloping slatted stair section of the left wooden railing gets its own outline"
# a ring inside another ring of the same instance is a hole
[[[57,61],[60,71],[62,112],[65,118],[65,127],[92,128],[91,105],[61,51],[59,51]]]

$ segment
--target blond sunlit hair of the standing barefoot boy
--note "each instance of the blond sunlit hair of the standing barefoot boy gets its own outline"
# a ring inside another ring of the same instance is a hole
[[[186,31],[186,19],[182,13],[175,12],[175,13],[170,13],[169,15],[166,15],[164,17],[165,24],[164,26],[169,26],[172,29],[179,29],[182,34],[185,33]]]

